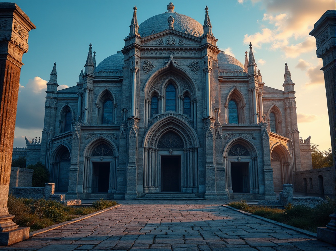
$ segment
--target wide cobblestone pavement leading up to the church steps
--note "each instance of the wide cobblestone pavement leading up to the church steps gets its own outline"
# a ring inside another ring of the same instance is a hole
[[[335,250],[219,201],[121,201],[123,205],[1,250]]]

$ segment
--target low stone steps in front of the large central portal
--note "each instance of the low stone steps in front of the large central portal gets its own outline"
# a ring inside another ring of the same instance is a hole
[[[136,200],[205,200],[196,196],[193,193],[148,193],[142,198],[137,198]]]

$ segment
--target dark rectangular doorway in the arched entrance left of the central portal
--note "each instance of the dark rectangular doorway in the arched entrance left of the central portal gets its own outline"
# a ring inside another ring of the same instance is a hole
[[[110,162],[92,163],[92,193],[107,193],[110,182]]]

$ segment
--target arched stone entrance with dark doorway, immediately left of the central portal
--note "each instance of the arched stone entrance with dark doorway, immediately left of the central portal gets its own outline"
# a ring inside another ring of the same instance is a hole
[[[98,139],[84,152],[83,193],[115,193],[118,159],[111,143]]]

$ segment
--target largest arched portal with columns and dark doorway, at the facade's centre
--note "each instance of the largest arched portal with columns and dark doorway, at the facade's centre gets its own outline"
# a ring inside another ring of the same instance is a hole
[[[144,137],[143,192],[198,192],[198,140],[173,114],[155,122]]]

